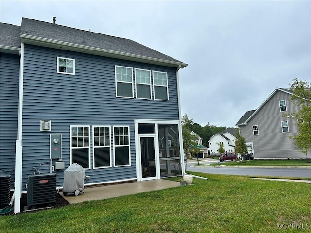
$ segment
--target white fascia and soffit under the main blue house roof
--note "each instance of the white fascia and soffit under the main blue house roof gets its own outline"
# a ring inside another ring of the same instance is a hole
[[[129,54],[125,52],[94,48],[94,47],[89,47],[89,46],[84,46],[84,45],[77,45],[77,44],[72,44],[72,43],[68,43],[64,41],[51,40],[51,39],[36,37],[32,35],[20,34],[20,38],[21,38],[21,41],[24,42],[25,44],[38,45],[38,46],[49,47],[49,48],[54,48],[54,49],[70,50],[70,51],[89,53],[89,54],[94,54],[94,55],[99,55],[99,56],[106,56],[106,57],[119,58],[119,59],[130,60],[130,61],[144,62],[144,63],[148,61],[148,63],[150,64],[161,65],[161,66],[166,66],[166,67],[184,68],[188,66],[186,63],[167,61],[167,60],[162,60],[162,59],[157,59],[157,58]],[[66,47],[66,48],[60,48],[60,47]]]

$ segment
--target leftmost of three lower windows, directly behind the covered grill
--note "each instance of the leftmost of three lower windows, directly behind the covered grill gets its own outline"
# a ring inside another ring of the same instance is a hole
[[[90,137],[89,126],[71,126],[71,164],[77,163],[85,169],[90,169]]]

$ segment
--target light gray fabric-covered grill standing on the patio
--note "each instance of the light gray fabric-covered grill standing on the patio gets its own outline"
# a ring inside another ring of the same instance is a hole
[[[73,193],[84,189],[85,169],[77,163],[71,164],[64,172],[63,192]]]

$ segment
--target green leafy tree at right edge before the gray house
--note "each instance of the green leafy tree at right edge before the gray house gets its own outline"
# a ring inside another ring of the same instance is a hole
[[[296,101],[295,106],[300,106],[300,110],[291,113],[294,119],[297,120],[299,128],[298,135],[292,137],[295,139],[295,144],[300,152],[306,154],[308,161],[308,150],[311,150],[311,82],[293,79],[290,84],[290,90],[294,93],[291,96],[291,101]],[[288,116],[288,114],[284,114]]]

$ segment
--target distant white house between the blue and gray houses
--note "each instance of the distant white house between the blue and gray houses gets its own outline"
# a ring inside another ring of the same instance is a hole
[[[237,128],[227,128],[220,133],[214,134],[208,140],[208,155],[219,155],[219,144],[222,144],[226,153],[234,153],[234,141]]]

